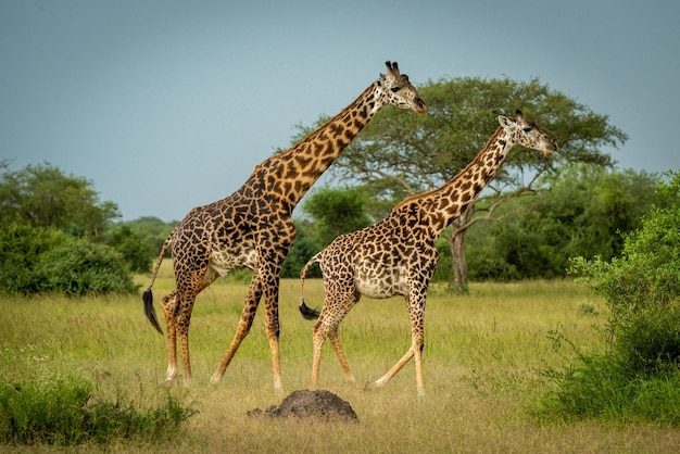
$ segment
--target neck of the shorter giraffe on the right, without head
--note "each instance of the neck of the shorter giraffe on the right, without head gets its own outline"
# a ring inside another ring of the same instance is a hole
[[[432,235],[438,237],[475,201],[514,144],[512,135],[500,127],[475,160],[453,179],[441,188],[406,199],[395,210],[413,210],[417,206],[424,216],[429,217]]]

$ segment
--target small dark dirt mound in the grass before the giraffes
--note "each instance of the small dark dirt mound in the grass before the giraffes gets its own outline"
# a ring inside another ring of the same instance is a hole
[[[324,420],[348,420],[358,423],[358,417],[345,400],[326,390],[298,390],[291,392],[281,405],[272,405],[266,411],[251,409],[248,416],[315,417]]]

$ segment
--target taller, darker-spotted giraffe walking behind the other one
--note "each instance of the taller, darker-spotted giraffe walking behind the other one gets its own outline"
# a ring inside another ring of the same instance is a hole
[[[281,388],[278,290],[281,264],[295,238],[293,209],[383,105],[392,104],[418,113],[427,110],[408,76],[400,74],[396,62],[386,64],[387,74],[380,74],[339,114],[294,147],[255,166],[243,186],[231,196],[191,210],[167,237],[142,300],[149,321],[163,333],[153,308],[151,287],[165,250],[172,243],[177,287],[163,299],[168,380],[177,375],[177,336],[185,384],[191,380],[189,321],[196,297],[229,270],[251,268],[254,273],[236,335],[211,381],[216,383],[224,376],[250,331],[264,297],[274,387]]]

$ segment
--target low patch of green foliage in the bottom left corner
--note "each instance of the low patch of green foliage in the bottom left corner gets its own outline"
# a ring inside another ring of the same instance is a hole
[[[92,384],[80,379],[0,380],[0,443],[66,446],[130,437],[153,441],[174,433],[196,413],[169,392],[156,408],[140,409],[119,399],[96,400]]]

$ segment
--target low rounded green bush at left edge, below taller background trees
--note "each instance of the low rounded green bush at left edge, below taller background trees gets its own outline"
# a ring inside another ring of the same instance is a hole
[[[129,293],[127,265],[113,249],[54,228],[12,224],[0,230],[0,292]]]

